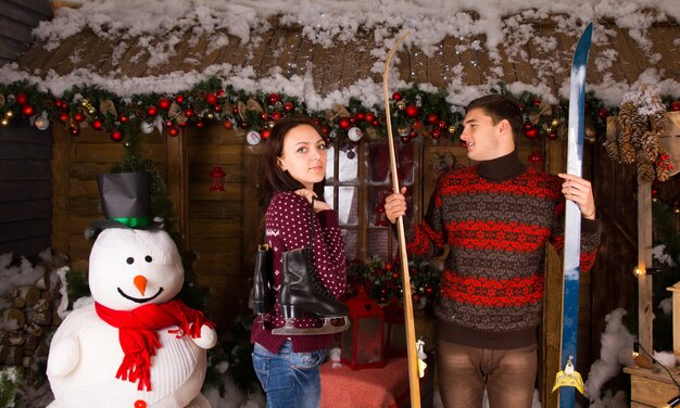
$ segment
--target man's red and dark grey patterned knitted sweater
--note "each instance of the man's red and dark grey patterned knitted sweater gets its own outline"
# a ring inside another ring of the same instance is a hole
[[[564,245],[563,179],[516,153],[442,176],[423,222],[406,226],[412,255],[444,262],[438,337],[480,348],[536,344],[545,244]],[[581,219],[581,272],[595,260],[600,221]]]

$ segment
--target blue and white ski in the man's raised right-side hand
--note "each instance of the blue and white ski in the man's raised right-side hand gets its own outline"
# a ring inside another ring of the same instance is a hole
[[[567,173],[581,177],[583,163],[583,116],[585,104],[585,67],[590,52],[593,24],[590,23],[579,38],[574,52],[569,88],[569,133],[567,140]],[[571,408],[575,388],[583,393],[583,380],[576,371],[576,353],[579,324],[579,263],[581,250],[581,212],[567,200],[565,215],[564,289],[562,295],[562,347],[559,361],[563,368],[555,378],[553,391],[559,388],[559,407]]]

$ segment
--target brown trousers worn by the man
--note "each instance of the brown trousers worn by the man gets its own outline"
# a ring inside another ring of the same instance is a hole
[[[481,408],[484,388],[491,408],[531,408],[537,371],[536,344],[513,349],[437,344],[439,390],[446,408]]]

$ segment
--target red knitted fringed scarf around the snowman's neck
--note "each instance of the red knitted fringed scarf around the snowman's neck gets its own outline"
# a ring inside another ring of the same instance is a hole
[[[144,386],[151,391],[151,357],[161,347],[156,330],[178,326],[168,333],[177,333],[177,339],[185,334],[196,339],[201,336],[201,326],[215,327],[214,322],[203,317],[202,311],[190,308],[181,301],[149,304],[134,310],[113,310],[99,303],[95,303],[95,308],[103,321],[118,328],[118,340],[125,356],[116,378],[133,383],[139,380],[137,390],[140,391]]]

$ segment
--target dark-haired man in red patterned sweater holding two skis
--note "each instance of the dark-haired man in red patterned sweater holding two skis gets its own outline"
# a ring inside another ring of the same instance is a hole
[[[444,174],[420,225],[404,222],[408,253],[450,248],[435,307],[437,365],[446,408],[531,407],[538,371],[545,244],[564,244],[565,199],[580,208],[580,270],[590,270],[600,221],[589,181],[527,168],[515,138],[524,116],[490,94],[467,106],[461,139],[476,166]],[[405,189],[386,199],[391,222],[406,212]]]

